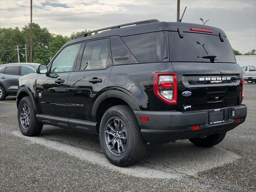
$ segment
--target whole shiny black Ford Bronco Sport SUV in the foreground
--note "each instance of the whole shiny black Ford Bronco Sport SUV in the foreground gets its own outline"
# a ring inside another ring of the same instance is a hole
[[[19,79],[24,135],[43,124],[99,134],[106,158],[129,166],[147,142],[210,147],[244,122],[242,70],[219,28],[146,20],[96,31]]]

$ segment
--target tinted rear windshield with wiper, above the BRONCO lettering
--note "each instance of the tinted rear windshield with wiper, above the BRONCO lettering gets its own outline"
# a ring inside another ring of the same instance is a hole
[[[168,32],[170,46],[170,61],[178,62],[210,62],[209,58],[198,56],[214,55],[214,62],[236,63],[232,48],[228,39],[224,42],[219,36],[184,32],[184,38],[180,38],[178,32]]]

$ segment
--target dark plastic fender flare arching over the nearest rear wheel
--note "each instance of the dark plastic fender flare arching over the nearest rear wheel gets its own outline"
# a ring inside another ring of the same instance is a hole
[[[138,107],[136,102],[128,94],[126,94],[122,91],[118,91],[118,90],[108,90],[108,91],[100,94],[100,96],[98,96],[98,98],[95,100],[95,102],[93,104],[92,120],[94,122],[97,122],[97,111],[98,111],[100,104],[107,98],[122,99],[130,106],[130,108],[132,108],[132,110],[140,110],[140,108]]]

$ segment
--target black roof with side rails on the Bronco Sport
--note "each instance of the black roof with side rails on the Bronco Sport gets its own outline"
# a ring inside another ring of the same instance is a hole
[[[151,22],[148,22],[151,21]],[[219,35],[219,33],[222,33],[223,36],[226,36],[226,34],[220,29],[208,25],[201,25],[201,24],[194,24],[194,23],[184,23],[184,22],[159,22],[158,20],[146,20],[146,21],[140,21],[140,22],[134,22],[140,23],[136,25],[129,26],[128,24],[122,24],[118,26],[112,26],[108,28],[103,28],[100,30],[94,30],[92,32],[96,31],[102,31],[99,34],[92,35],[92,36],[85,36],[85,34],[78,35],[76,36],[73,40],[67,42],[64,46],[70,43],[74,42],[80,42],[84,40],[90,40],[90,39],[95,39],[95,38],[101,38],[101,37],[106,37],[106,36],[130,36],[130,35],[135,35],[135,34],[143,34],[143,33],[149,33],[149,32],[156,32],[156,31],[178,31],[178,28],[182,30],[183,32],[192,32],[190,31],[189,27],[194,27],[194,28],[204,28],[204,29],[211,29],[213,30],[214,35]],[[133,24],[133,23],[129,23]],[[122,27],[126,26],[126,27]],[[193,31],[195,32],[195,31]],[[91,33],[91,32],[88,32]],[[87,34],[88,34],[87,33]],[[196,33],[204,33],[204,34],[209,34],[205,32],[196,32]],[[85,36],[85,37],[83,37]]]

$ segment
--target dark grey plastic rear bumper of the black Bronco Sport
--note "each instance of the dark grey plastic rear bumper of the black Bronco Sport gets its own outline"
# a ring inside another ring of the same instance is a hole
[[[245,121],[247,107],[244,104],[224,109],[224,122],[209,124],[209,110],[170,112],[138,111],[134,114],[140,125],[143,138],[151,144],[168,143],[179,139],[198,138],[234,129]],[[234,116],[232,116],[234,111]],[[142,122],[140,117],[149,117],[149,122]],[[240,122],[237,123],[237,120]],[[192,130],[192,126],[200,126]]]

